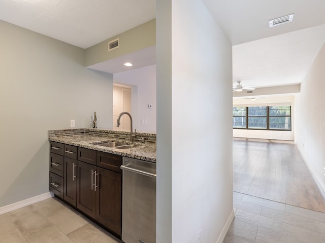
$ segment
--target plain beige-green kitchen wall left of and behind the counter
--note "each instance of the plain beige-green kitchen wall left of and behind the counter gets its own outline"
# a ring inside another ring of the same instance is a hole
[[[112,74],[84,50],[0,21],[0,207],[48,192],[48,130],[112,127]]]

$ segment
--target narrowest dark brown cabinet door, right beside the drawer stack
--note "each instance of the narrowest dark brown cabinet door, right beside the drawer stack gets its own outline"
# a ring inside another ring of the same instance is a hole
[[[63,199],[77,206],[77,160],[64,157]]]

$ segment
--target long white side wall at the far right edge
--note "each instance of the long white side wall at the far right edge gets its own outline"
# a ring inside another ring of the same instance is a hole
[[[325,191],[325,45],[301,83],[297,96],[296,143],[307,165]]]

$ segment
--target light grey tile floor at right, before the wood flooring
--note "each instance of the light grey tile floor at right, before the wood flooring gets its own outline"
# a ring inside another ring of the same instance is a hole
[[[223,243],[324,243],[325,213],[234,192],[234,221]]]

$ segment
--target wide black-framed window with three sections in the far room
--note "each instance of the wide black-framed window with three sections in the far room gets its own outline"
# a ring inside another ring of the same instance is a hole
[[[291,131],[291,106],[233,107],[233,128]]]

